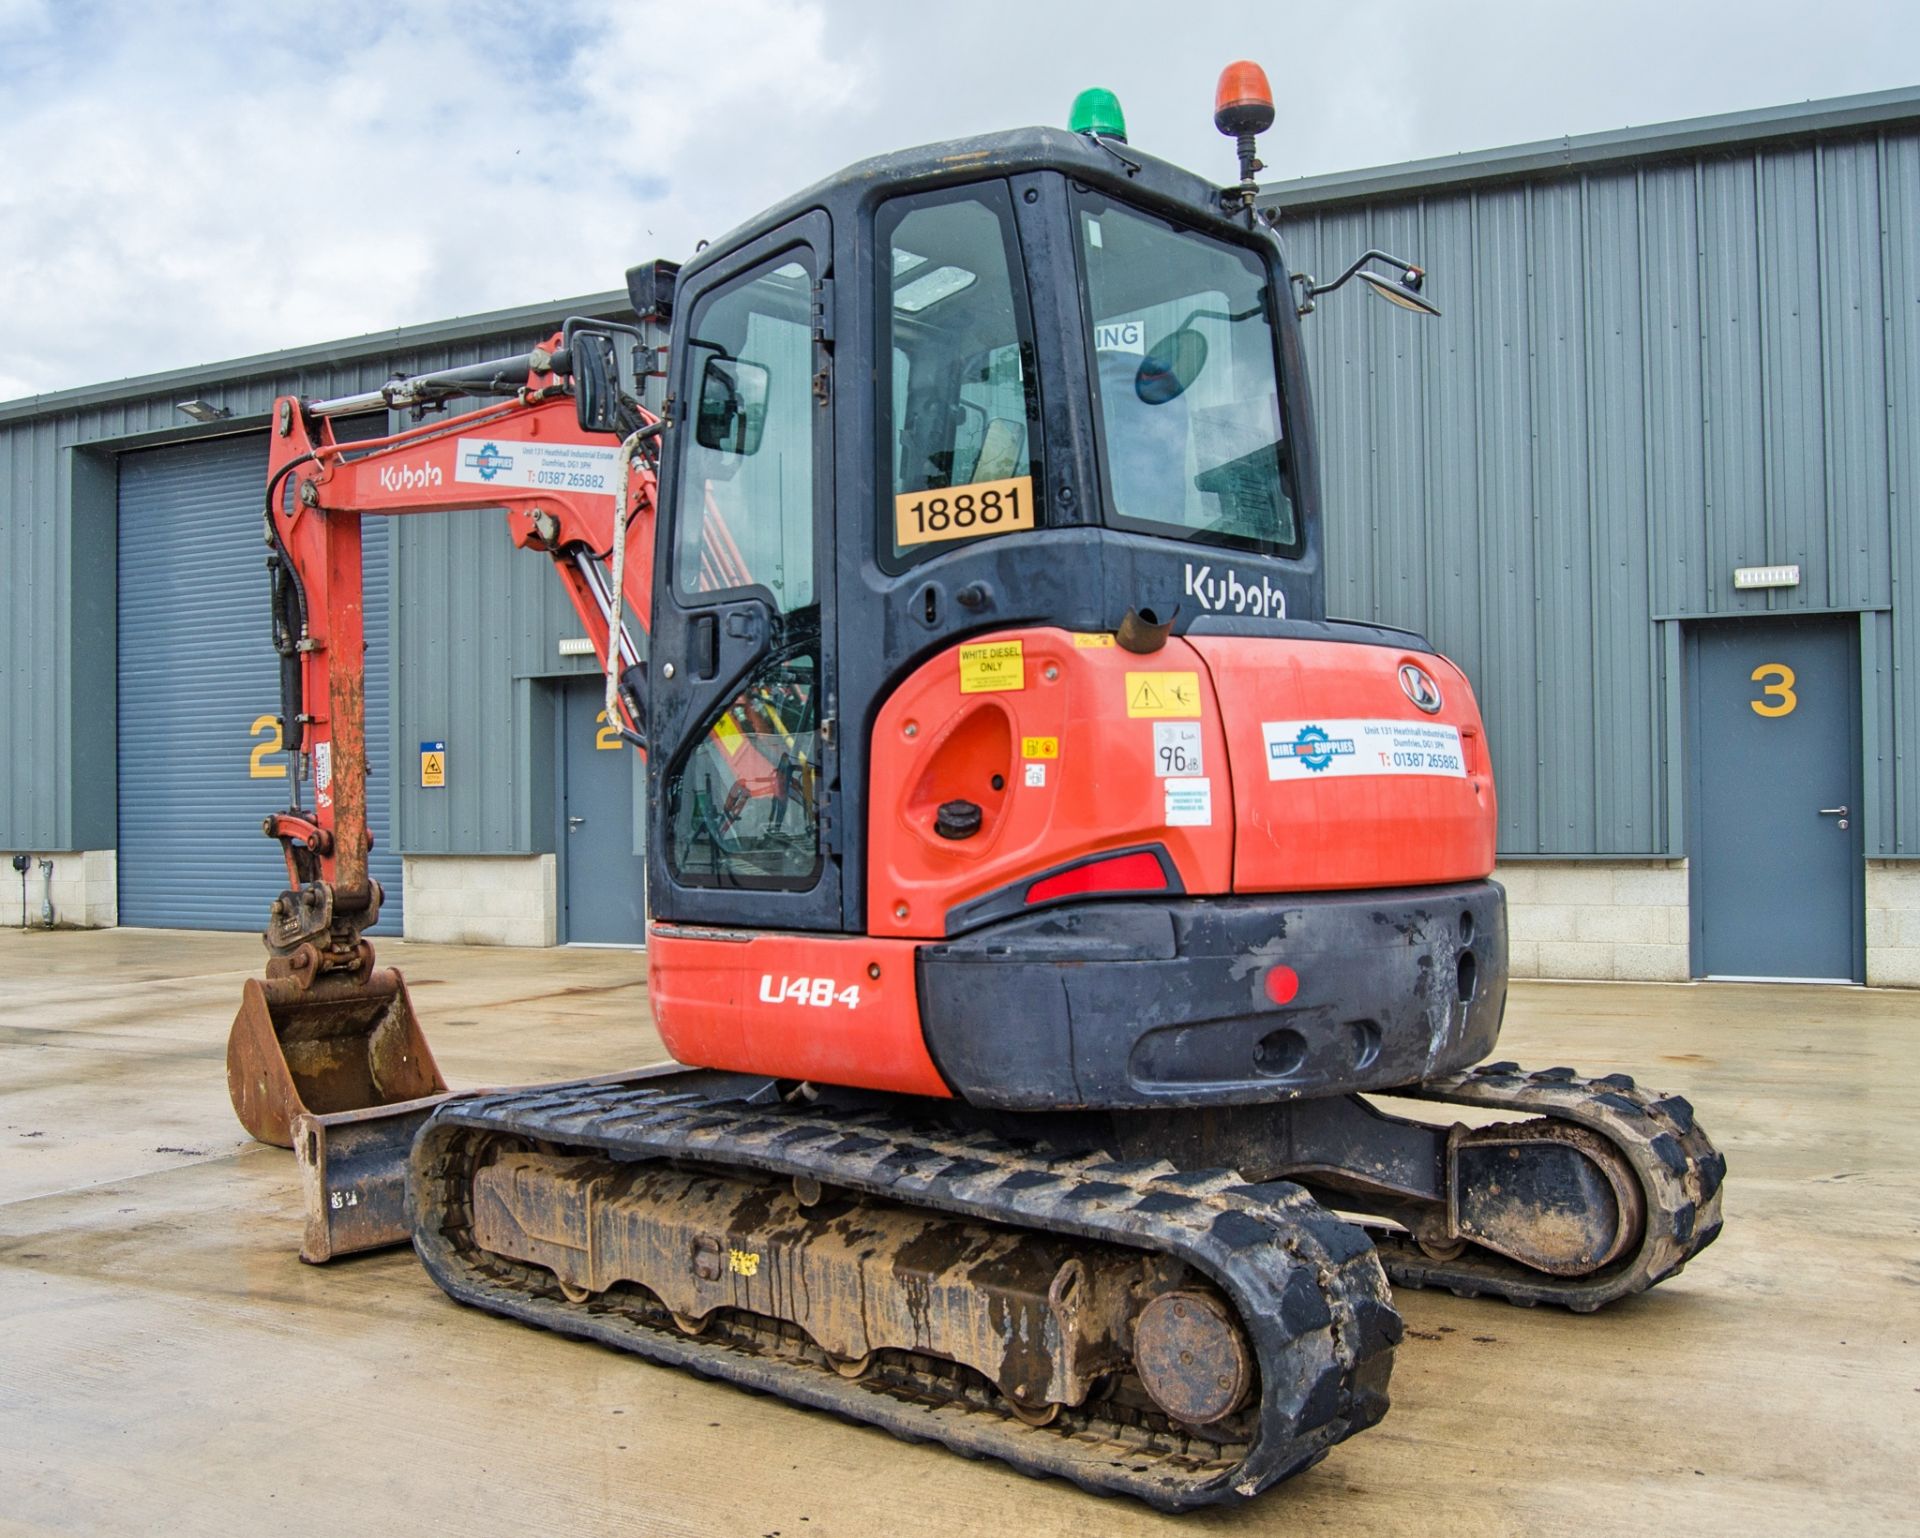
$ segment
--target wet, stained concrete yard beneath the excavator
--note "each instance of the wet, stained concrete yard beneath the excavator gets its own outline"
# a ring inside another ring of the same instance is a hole
[[[1726,1233],[1594,1315],[1405,1292],[1386,1421],[1160,1517],[296,1260],[223,1050],[257,939],[0,935],[0,1532],[1849,1532],[1920,1521],[1920,995],[1515,989],[1501,1054],[1688,1094]],[[384,945],[451,1083],[657,1060],[641,958]]]

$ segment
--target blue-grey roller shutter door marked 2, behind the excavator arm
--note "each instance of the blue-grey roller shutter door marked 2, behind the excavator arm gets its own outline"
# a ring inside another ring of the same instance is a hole
[[[142,449],[119,461],[119,920],[259,929],[286,885],[261,837],[286,806],[275,753],[278,666],[267,618],[265,436]],[[372,874],[399,933],[392,839],[390,626],[384,520],[363,524]],[[311,805],[311,787],[301,797]]]

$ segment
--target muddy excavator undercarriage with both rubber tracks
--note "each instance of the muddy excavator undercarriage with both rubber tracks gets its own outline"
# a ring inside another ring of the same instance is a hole
[[[1718,1233],[1684,1100],[1509,1064],[1404,1098],[1524,1119],[1004,1116],[699,1069],[482,1094],[413,1146],[413,1238],[488,1311],[1185,1509],[1384,1415],[1388,1277],[1584,1311]]]

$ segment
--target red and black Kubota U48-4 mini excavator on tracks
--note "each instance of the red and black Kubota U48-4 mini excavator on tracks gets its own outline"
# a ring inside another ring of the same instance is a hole
[[[403,1231],[411,1144],[461,1302],[1179,1509],[1380,1419],[1388,1277],[1594,1310],[1713,1240],[1684,1100],[1475,1068],[1486,733],[1421,637],[1325,613],[1300,342],[1348,276],[1434,307],[1377,252],[1290,275],[1258,67],[1215,106],[1225,188],[1091,94],[634,269],[645,328],[278,401],[313,803],[267,826],[288,891],[228,1077],[255,1135],[313,1139],[336,1248],[363,1198]],[[424,419],[336,442],[382,405]],[[666,1069],[447,1094],[361,939],[359,520],[453,507],[553,561],[647,755]],[[1500,1119],[1411,1114],[1446,1106]]]

